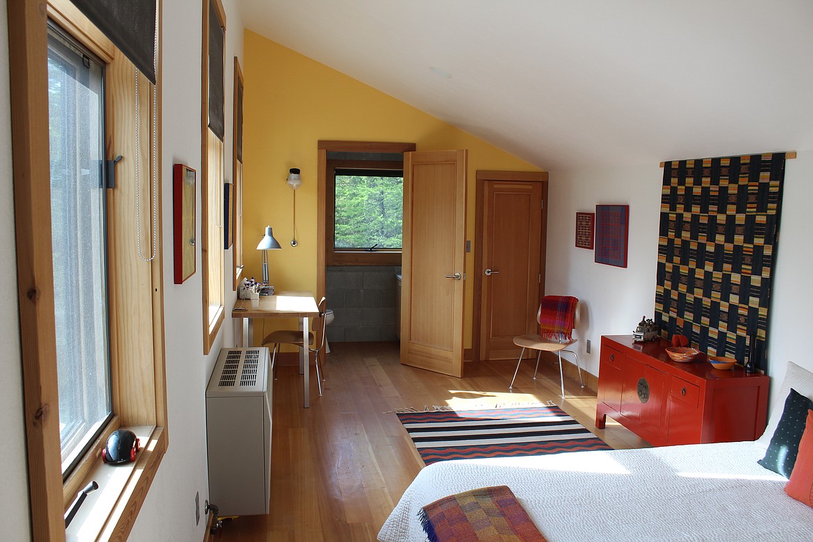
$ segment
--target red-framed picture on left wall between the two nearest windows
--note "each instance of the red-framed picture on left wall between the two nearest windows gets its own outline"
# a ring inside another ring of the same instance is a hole
[[[172,211],[174,226],[175,284],[195,274],[195,176],[184,164],[172,168]]]

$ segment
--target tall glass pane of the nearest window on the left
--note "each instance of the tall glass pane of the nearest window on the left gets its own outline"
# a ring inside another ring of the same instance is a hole
[[[48,29],[51,247],[63,477],[111,417],[104,66]]]

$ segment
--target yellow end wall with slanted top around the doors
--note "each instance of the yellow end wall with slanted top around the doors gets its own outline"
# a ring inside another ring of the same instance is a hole
[[[278,290],[315,293],[317,141],[406,141],[415,143],[417,150],[467,149],[467,239],[472,240],[472,254],[466,263],[470,280],[463,342],[471,348],[476,171],[539,169],[249,30],[244,36],[243,54],[244,276],[259,279],[262,275],[260,253],[254,247],[265,226],[270,225],[282,245],[281,250],[268,253],[270,284]],[[302,170],[302,186],[296,194],[296,248],[290,245],[293,191],[285,184],[290,167]],[[268,320],[264,332],[279,325],[279,321]]]

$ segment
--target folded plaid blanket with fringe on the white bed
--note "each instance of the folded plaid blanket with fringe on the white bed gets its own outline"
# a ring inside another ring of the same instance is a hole
[[[443,497],[419,518],[430,542],[546,542],[508,486]]]

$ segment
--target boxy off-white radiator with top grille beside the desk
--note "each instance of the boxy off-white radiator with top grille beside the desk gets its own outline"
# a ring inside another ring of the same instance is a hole
[[[272,405],[268,349],[220,350],[206,392],[209,501],[220,516],[268,514]]]

